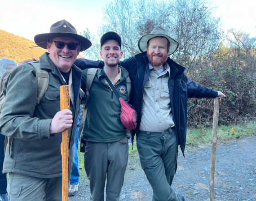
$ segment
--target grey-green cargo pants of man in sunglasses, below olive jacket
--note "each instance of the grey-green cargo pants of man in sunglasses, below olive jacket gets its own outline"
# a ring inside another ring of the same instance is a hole
[[[7,192],[9,201],[62,201],[62,176],[43,179],[10,173]]]

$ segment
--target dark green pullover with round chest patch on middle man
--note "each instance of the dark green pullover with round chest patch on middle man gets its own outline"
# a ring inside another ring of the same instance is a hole
[[[115,89],[125,101],[128,101],[129,97],[126,86],[128,71],[121,66],[119,67],[122,69],[122,76]],[[85,91],[88,69],[82,71],[81,85],[82,90]],[[110,87],[106,85],[104,77],[102,69],[99,68],[90,88],[90,99],[88,101],[82,136],[86,141],[114,142],[126,136],[126,128],[120,120],[121,104]],[[119,91],[119,87],[122,86],[126,88],[124,94],[121,94]]]

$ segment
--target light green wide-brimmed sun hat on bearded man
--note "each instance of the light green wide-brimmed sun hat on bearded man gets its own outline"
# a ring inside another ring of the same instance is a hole
[[[174,40],[173,38],[171,38],[170,36],[168,36],[167,31],[165,29],[163,29],[163,27],[156,26],[154,28],[154,30],[151,31],[150,34],[146,34],[139,39],[138,46],[139,46],[140,51],[142,51],[142,52],[146,51],[148,41],[151,38],[154,38],[157,36],[163,36],[163,37],[167,38],[168,41],[170,42],[170,50],[169,50],[168,55],[173,54],[179,47],[179,43],[176,40]]]

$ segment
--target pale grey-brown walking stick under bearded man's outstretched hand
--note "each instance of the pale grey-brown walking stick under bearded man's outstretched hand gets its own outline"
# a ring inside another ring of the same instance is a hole
[[[214,172],[217,148],[217,133],[219,120],[220,100],[219,97],[214,99],[214,111],[212,121],[212,158],[211,158],[211,173],[210,173],[210,201],[214,201]]]

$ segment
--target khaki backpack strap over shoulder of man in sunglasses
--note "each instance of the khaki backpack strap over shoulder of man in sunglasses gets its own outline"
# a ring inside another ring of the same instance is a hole
[[[49,85],[49,73],[47,70],[41,68],[41,65],[37,61],[28,61],[25,62],[31,64],[35,68],[36,79],[37,79],[37,96],[36,96],[36,105],[38,105],[43,98],[45,91]]]

